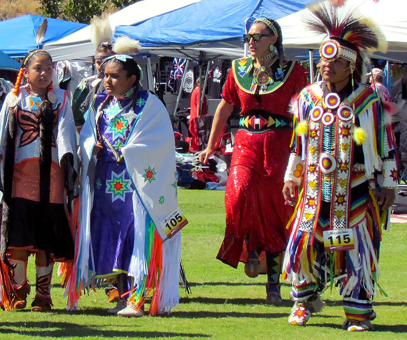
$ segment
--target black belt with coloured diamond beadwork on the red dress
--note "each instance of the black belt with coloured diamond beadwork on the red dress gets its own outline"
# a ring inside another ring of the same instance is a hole
[[[249,132],[265,132],[275,128],[287,128],[292,126],[292,120],[279,115],[241,115],[239,129]]]

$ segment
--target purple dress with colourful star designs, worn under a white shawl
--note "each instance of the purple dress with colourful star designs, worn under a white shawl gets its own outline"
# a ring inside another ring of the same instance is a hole
[[[106,96],[97,95],[94,106]],[[140,91],[136,100],[114,98],[98,120],[98,140],[103,149],[97,155],[95,170],[90,269],[99,277],[129,269],[134,243],[134,187],[120,149],[147,96],[147,91]]]

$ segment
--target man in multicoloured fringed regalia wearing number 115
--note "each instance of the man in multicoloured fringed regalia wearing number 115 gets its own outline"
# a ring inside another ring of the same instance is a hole
[[[367,50],[386,44],[376,25],[355,9],[326,3],[310,7],[305,23],[328,34],[320,48],[322,82],[304,88],[295,114],[294,153],[284,177],[284,197],[297,201],[283,263],[295,301],[288,318],[303,326],[321,309],[327,278],[339,284],[344,329],[371,329],[371,300],[379,275],[382,221],[397,189],[391,121],[379,95],[361,84]],[[383,185],[376,192],[377,172]]]

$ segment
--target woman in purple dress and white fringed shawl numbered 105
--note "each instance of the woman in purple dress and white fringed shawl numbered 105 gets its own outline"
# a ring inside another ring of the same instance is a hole
[[[170,312],[180,298],[177,231],[187,223],[177,201],[171,123],[161,101],[140,89],[132,57],[114,55],[104,64],[106,93],[95,95],[80,132],[81,211],[69,307],[83,288],[110,278],[121,299],[108,312],[140,317],[150,294],[151,315]]]

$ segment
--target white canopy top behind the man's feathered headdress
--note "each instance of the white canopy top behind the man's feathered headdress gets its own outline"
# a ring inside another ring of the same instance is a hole
[[[376,21],[382,29],[387,41],[387,58],[396,61],[407,62],[407,2],[405,0],[381,0],[378,3],[373,0],[348,0],[364,16]],[[305,10],[287,15],[278,19],[283,33],[284,48],[298,49],[298,54],[308,53],[308,50],[318,50],[319,45],[326,39],[322,35],[315,35],[307,30],[301,21]],[[301,51],[302,49],[302,51]],[[374,54],[375,58],[383,57],[383,54]],[[386,58],[386,59],[387,59]]]

